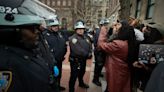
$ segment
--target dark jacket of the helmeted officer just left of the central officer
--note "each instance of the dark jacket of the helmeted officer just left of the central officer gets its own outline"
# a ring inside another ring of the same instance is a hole
[[[57,61],[63,61],[64,55],[66,54],[66,40],[63,37],[62,33],[60,31],[47,31],[46,34],[44,34],[44,36],[48,41],[50,50],[53,53],[55,59]]]

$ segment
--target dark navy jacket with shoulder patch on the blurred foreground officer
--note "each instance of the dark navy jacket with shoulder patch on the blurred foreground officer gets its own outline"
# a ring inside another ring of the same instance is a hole
[[[50,92],[50,70],[32,51],[0,46],[0,75],[4,92]]]

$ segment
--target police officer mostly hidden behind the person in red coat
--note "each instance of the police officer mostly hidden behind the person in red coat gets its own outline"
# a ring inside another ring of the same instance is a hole
[[[108,25],[109,20],[106,18],[103,18],[99,22],[100,28],[103,25]],[[105,63],[105,53],[97,48],[97,41],[100,33],[100,29],[95,30],[95,35],[94,35],[94,55],[95,55],[95,68],[94,68],[94,77],[92,82],[96,84],[97,86],[101,86],[101,82],[99,81],[99,77],[101,75],[102,68]]]

